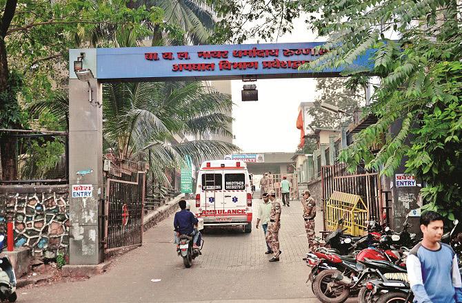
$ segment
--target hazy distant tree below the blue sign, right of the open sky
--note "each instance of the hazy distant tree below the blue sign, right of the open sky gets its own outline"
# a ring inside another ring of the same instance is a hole
[[[308,111],[313,118],[310,123],[313,128],[340,129],[342,123],[352,122],[354,109],[361,106],[365,93],[357,87],[350,90],[346,87],[347,81],[347,78],[317,79],[316,92],[319,92],[319,96],[314,100],[314,107]],[[335,105],[346,114],[325,110],[321,108],[321,103]]]

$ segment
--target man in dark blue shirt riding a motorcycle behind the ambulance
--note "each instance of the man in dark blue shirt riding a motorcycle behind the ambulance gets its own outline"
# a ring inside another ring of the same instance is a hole
[[[197,229],[194,229],[194,225],[197,225],[199,220],[194,217],[192,212],[186,209],[185,200],[180,200],[178,205],[181,208],[181,211],[177,211],[177,213],[175,213],[175,218],[173,220],[175,244],[179,244],[179,236],[188,235],[193,237],[193,248],[199,249],[197,242],[199,240],[200,233]]]

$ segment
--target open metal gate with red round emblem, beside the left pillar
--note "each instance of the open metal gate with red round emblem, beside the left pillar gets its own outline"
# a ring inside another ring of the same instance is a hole
[[[106,158],[105,253],[143,242],[145,165]]]

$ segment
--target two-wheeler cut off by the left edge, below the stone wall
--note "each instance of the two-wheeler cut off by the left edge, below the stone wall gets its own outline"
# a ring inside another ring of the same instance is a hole
[[[0,250],[4,249],[5,236],[0,234]],[[8,255],[0,254],[0,300],[15,302],[16,293],[16,275]]]

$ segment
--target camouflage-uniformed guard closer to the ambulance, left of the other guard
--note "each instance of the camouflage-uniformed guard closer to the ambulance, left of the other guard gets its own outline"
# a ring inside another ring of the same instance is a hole
[[[270,244],[274,256],[270,262],[279,261],[281,250],[279,249],[279,229],[281,229],[281,203],[276,198],[274,190],[268,191],[268,196],[271,201],[270,223],[266,233],[266,242]]]

